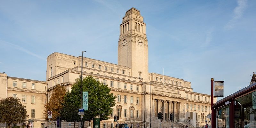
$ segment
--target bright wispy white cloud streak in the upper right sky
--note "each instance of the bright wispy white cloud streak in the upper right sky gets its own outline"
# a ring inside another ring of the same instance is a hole
[[[247,7],[247,0],[237,0],[237,6],[234,9],[233,13],[234,16],[224,27],[225,29],[231,29],[235,26],[235,23],[238,19],[240,19],[243,16],[244,10]]]

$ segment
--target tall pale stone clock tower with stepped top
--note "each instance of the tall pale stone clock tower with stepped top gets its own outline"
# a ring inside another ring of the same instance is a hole
[[[143,81],[148,80],[146,24],[140,11],[133,7],[126,11],[120,24],[118,65],[131,68],[130,76],[143,78]]]

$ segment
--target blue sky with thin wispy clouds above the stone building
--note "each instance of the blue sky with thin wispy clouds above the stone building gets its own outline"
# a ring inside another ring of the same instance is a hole
[[[147,26],[149,72],[224,96],[249,85],[256,71],[256,1],[0,0],[0,72],[45,81],[53,52],[117,64],[119,25],[140,10]],[[221,97],[218,99],[222,99]]]

